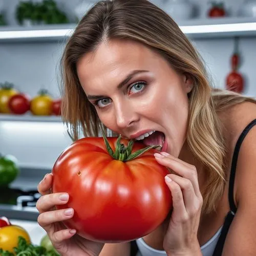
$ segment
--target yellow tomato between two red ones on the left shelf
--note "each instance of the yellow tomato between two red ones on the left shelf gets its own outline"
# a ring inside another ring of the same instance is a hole
[[[31,100],[30,111],[33,115],[50,116],[52,114],[52,106],[52,97],[42,92]]]

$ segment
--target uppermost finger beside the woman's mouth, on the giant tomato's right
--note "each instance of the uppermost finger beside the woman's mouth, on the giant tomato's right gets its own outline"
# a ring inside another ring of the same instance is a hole
[[[201,196],[199,184],[198,184],[198,177],[197,177],[197,170],[195,166],[189,165],[182,160],[177,160],[177,158],[173,156],[164,156],[162,154],[154,154],[157,162],[160,164],[174,170],[175,173],[180,175],[183,178],[189,179],[193,184],[195,194],[197,197]]]

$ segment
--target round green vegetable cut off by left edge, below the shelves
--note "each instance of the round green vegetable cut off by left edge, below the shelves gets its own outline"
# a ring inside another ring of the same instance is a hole
[[[13,156],[2,156],[0,154],[0,187],[8,186],[16,179],[19,168]]]

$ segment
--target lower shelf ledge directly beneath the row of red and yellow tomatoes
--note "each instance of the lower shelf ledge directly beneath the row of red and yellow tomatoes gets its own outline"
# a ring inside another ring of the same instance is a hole
[[[25,115],[8,115],[0,114],[1,121],[25,121],[25,122],[61,122],[60,116],[33,116],[29,114]]]

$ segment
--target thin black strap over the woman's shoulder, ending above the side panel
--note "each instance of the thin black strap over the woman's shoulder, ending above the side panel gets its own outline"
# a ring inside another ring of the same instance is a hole
[[[238,154],[240,151],[240,147],[242,145],[242,142],[247,135],[247,133],[250,131],[250,129],[256,125],[256,119],[251,121],[243,130],[241,135],[238,138],[236,147],[234,147],[234,154],[232,157],[232,164],[231,164],[231,169],[230,169],[230,178],[229,178],[229,186],[228,186],[228,201],[229,201],[229,207],[230,210],[235,214],[237,211],[237,207],[234,204],[234,178],[236,177],[236,169],[237,169],[237,162],[238,162]]]

